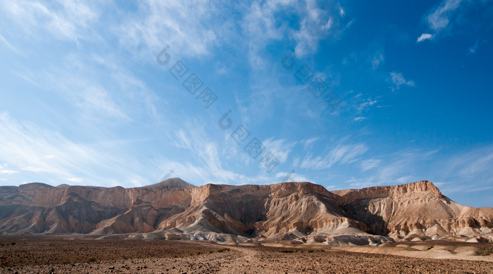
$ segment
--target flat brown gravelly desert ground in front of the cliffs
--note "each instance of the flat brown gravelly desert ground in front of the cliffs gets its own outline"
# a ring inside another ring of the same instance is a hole
[[[435,243],[430,249],[438,245]],[[468,249],[468,245],[455,249],[463,247]],[[428,246],[415,249],[425,252],[419,249],[428,250]],[[493,262],[347,252],[327,246],[283,248],[163,240],[0,239],[0,273],[16,272],[493,273]]]

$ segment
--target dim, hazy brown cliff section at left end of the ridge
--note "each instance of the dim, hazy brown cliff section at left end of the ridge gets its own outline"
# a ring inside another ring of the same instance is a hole
[[[192,201],[187,189],[56,188],[42,183],[1,187],[0,198],[3,233],[152,231],[156,221],[183,211]]]

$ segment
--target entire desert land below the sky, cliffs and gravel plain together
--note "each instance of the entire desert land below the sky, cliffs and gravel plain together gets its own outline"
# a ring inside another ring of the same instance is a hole
[[[493,273],[493,208],[429,181],[3,186],[0,273]]]

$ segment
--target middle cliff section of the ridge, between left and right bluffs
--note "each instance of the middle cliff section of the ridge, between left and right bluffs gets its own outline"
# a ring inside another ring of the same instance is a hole
[[[169,230],[183,223],[195,228],[198,222],[224,233],[247,237],[272,228],[309,231],[339,222],[343,216],[334,202],[337,195],[312,183],[209,184],[194,188],[191,195],[191,207],[161,222],[158,228]],[[183,226],[180,229],[191,230]]]

